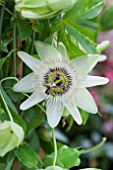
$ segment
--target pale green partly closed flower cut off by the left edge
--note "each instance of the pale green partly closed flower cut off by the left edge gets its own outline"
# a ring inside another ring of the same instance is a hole
[[[0,156],[18,147],[24,138],[24,131],[18,124],[10,121],[0,123]]]

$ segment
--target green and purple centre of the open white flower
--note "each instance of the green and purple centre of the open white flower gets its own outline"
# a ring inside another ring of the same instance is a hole
[[[62,95],[72,85],[72,77],[65,68],[51,68],[44,76],[43,85],[46,87],[47,95]]]

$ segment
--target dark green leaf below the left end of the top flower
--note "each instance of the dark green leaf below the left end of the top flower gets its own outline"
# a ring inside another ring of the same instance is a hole
[[[22,19],[15,19],[18,28],[18,39],[20,41],[26,40],[32,35],[32,28],[29,23]]]

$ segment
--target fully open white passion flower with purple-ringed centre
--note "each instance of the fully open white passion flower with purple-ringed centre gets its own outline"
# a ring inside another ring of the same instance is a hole
[[[70,60],[65,46],[59,43],[58,51],[49,44],[36,41],[35,47],[41,60],[26,52],[18,56],[33,71],[15,86],[14,91],[33,93],[20,109],[26,110],[46,101],[47,120],[51,127],[57,126],[64,108],[80,125],[82,118],[78,107],[97,113],[97,106],[86,87],[108,83],[108,79],[87,75],[99,61],[99,55],[87,55]]]

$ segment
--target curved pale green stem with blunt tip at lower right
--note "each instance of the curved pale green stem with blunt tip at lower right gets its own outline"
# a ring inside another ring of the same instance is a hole
[[[98,148],[100,148],[105,142],[106,142],[106,138],[104,137],[99,144],[97,144],[96,146],[94,146],[94,147],[91,148],[91,149],[81,150],[81,151],[80,151],[80,154],[86,154],[86,153],[95,151],[95,150],[97,150]]]

